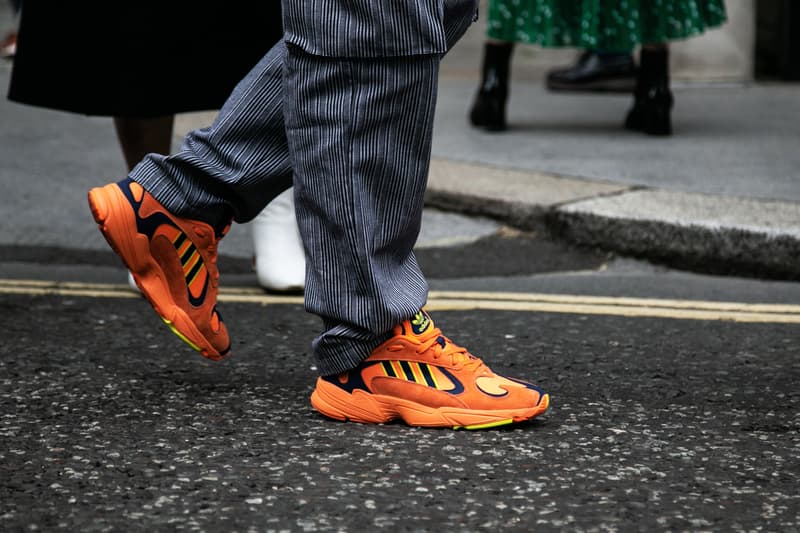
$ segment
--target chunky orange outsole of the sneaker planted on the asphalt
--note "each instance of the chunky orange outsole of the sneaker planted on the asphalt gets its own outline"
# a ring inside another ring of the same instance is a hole
[[[455,407],[428,407],[393,396],[355,390],[352,394],[323,379],[311,394],[311,405],[323,415],[341,421],[384,424],[402,420],[409,426],[487,429],[530,420],[550,405],[545,394],[539,404],[519,409],[479,411]]]

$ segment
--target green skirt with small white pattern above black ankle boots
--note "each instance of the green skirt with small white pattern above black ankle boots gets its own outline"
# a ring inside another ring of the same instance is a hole
[[[487,37],[627,52],[699,35],[726,20],[723,0],[489,0]]]

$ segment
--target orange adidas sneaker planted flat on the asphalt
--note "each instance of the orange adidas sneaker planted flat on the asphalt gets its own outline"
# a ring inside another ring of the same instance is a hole
[[[498,376],[457,346],[420,311],[394,328],[357,368],[320,377],[311,405],[337,420],[484,429],[544,413],[538,387]]]

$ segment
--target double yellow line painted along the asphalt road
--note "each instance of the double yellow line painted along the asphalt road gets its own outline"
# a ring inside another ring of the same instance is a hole
[[[0,279],[0,294],[80,296],[85,298],[139,298],[127,285]],[[223,288],[220,302],[259,305],[302,305],[302,296],[265,294],[258,288]],[[800,305],[617,298],[568,294],[431,291],[431,311],[520,311],[654,317],[683,320],[722,320],[743,323],[800,324]]]

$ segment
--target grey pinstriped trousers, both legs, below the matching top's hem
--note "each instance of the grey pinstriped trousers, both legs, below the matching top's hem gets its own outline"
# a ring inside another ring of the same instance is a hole
[[[475,9],[475,0],[445,1],[449,46]],[[328,58],[279,43],[211,126],[130,173],[171,212],[217,227],[251,220],[294,184],[305,307],[323,321],[313,342],[322,375],[357,366],[426,302],[412,249],[440,61]]]

